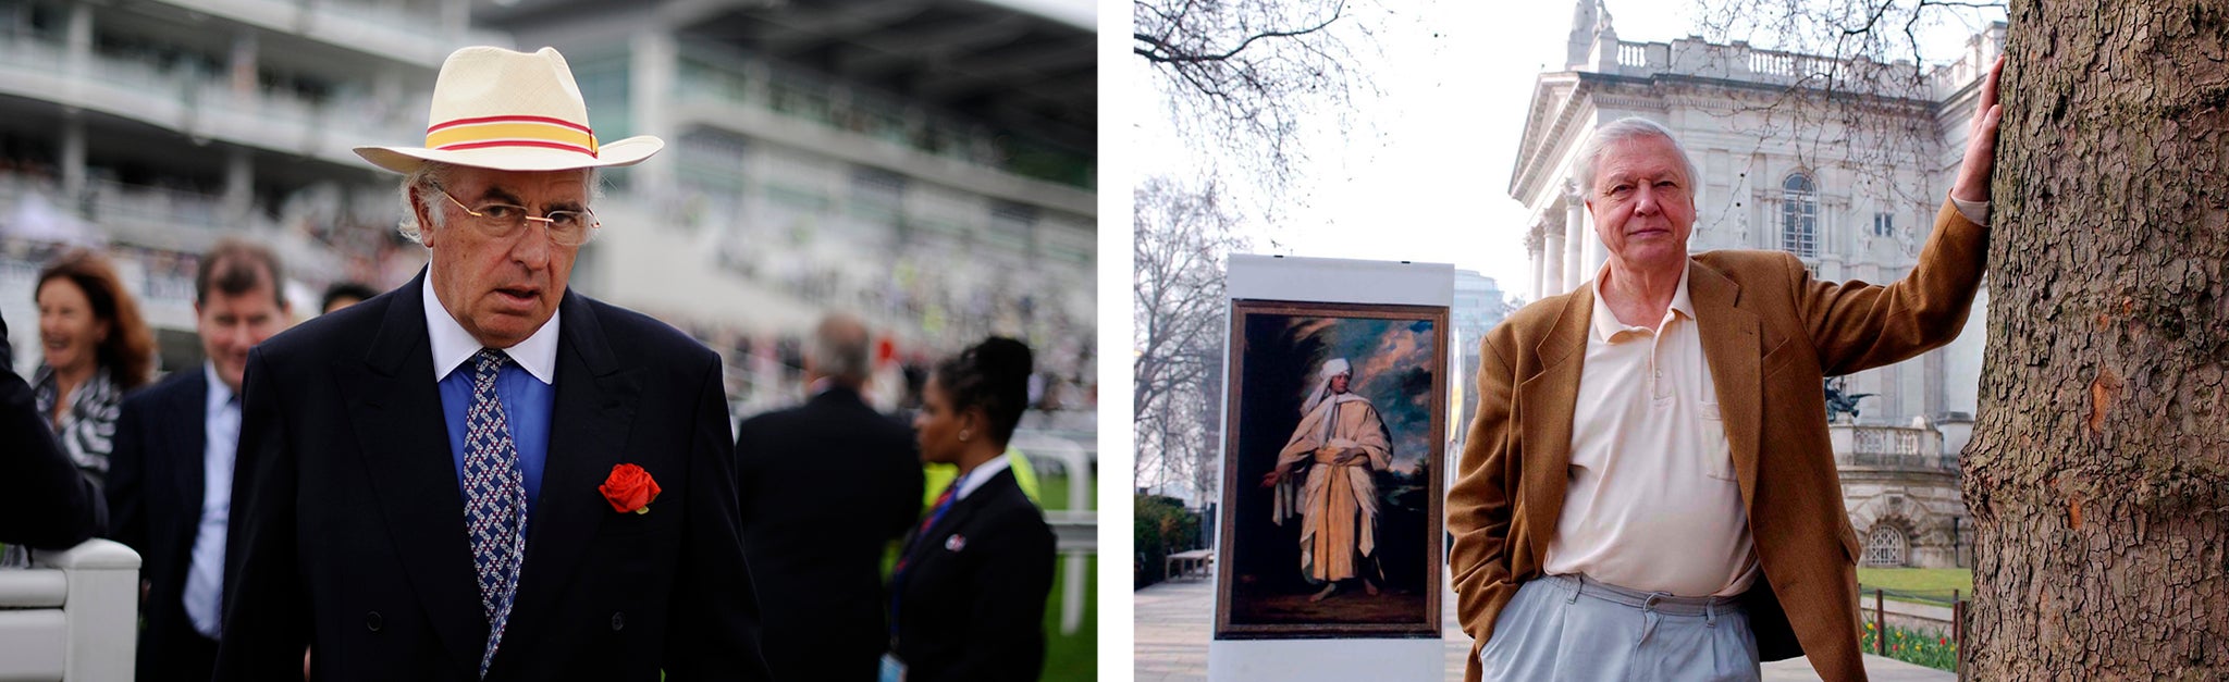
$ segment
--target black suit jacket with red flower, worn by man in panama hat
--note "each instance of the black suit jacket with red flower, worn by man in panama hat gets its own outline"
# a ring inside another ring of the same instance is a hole
[[[216,680],[475,680],[481,615],[419,274],[247,359]],[[566,292],[542,495],[488,680],[767,680],[720,359]],[[644,515],[597,486],[637,464]]]

